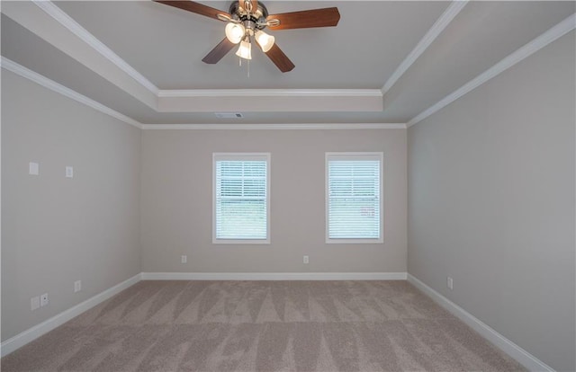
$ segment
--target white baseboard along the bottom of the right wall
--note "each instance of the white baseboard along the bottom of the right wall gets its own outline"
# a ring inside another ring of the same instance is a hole
[[[510,357],[518,360],[520,364],[529,369],[530,371],[538,372],[554,372],[553,368],[547,366],[544,362],[537,359],[535,356],[520,348],[516,343],[509,341],[506,337],[502,336],[499,332],[494,331],[488,324],[483,323],[480,319],[476,318],[473,314],[468,313],[462,307],[457,306],[448,298],[442,296],[435,289],[428,287],[424,282],[408,274],[408,281],[415,287],[419,288],[422,292],[426,293],[438,305],[444,307],[450,313],[455,314],[461,321],[468,324],[474,331],[480,333],[482,337],[491,341],[500,350],[507,353]]]

